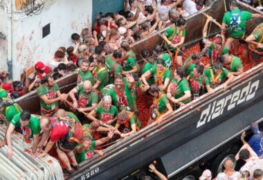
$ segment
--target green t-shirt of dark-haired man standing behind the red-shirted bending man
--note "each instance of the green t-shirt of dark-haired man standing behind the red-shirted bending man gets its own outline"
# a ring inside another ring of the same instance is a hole
[[[57,83],[55,83],[54,86],[49,89],[47,89],[44,84],[42,84],[42,86],[37,88],[38,96],[46,95],[48,100],[53,100],[57,98],[57,91],[59,91],[59,87]],[[44,100],[40,100],[40,106],[46,110],[55,110],[55,108],[58,106],[58,102],[53,102],[52,104],[46,104]]]

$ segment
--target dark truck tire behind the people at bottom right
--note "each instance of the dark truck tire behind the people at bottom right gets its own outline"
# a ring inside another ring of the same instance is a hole
[[[224,161],[226,161],[226,159],[232,159],[233,163],[234,163],[234,167],[237,163],[237,161],[235,161],[235,154],[237,154],[237,152],[239,151],[239,147],[237,146],[233,146],[228,148],[228,150],[221,152],[217,158],[215,159],[215,161],[212,163],[212,174],[214,176],[216,176],[219,172],[223,172],[224,167]]]

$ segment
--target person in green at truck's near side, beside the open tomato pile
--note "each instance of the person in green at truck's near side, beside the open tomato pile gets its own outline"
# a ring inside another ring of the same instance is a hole
[[[152,84],[149,87],[149,94],[154,96],[154,101],[151,106],[151,116],[147,122],[147,125],[157,121],[161,123],[163,118],[167,117],[168,115],[172,114],[172,106],[170,105],[167,96],[156,84]]]

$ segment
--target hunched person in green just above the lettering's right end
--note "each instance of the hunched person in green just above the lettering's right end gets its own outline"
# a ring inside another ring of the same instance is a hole
[[[244,72],[243,64],[239,57],[228,54],[220,55],[219,62],[221,62],[228,71],[231,71],[233,75],[240,75]]]

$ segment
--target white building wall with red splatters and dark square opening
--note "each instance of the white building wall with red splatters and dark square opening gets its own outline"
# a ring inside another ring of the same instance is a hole
[[[37,61],[48,63],[60,46],[69,47],[71,34],[80,34],[82,28],[91,28],[91,18],[91,0],[48,0],[40,15],[28,16],[20,20],[16,20],[17,17],[14,18],[12,23],[13,79],[19,79],[23,69],[28,69]],[[51,24],[51,33],[43,39],[42,28],[48,23]],[[2,46],[1,41],[0,46]],[[8,51],[11,50],[8,49]],[[2,64],[4,63],[1,62],[1,67]]]

